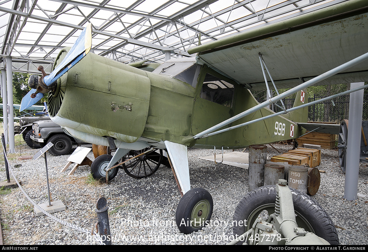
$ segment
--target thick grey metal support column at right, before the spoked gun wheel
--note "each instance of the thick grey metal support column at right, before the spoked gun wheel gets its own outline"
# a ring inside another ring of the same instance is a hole
[[[364,82],[350,83],[350,89],[363,86]],[[350,93],[349,128],[347,135],[346,172],[344,198],[355,200],[358,198],[358,174],[360,158],[360,138],[362,127],[364,90]]]

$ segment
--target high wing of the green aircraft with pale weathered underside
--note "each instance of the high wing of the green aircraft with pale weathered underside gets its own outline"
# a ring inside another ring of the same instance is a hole
[[[188,50],[250,90],[265,90],[259,53],[277,88],[295,87],[368,52],[368,1],[350,0]],[[318,84],[368,80],[368,61]]]

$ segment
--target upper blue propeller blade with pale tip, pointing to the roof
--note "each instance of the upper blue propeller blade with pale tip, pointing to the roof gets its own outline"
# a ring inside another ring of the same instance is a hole
[[[50,86],[61,75],[66,73],[72,66],[77,64],[86,54],[89,53],[92,47],[92,24],[88,24],[79,35],[70,51],[68,51],[64,60],[50,73],[43,78],[46,86]]]

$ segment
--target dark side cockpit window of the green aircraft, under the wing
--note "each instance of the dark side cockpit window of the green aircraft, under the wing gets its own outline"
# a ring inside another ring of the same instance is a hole
[[[231,108],[233,106],[234,85],[207,73],[199,96]]]

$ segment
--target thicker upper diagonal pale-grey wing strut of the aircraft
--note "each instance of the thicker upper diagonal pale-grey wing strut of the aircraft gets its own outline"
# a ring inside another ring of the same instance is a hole
[[[344,63],[344,64],[342,64],[340,66],[337,66],[336,68],[331,69],[330,71],[327,71],[325,73],[322,73],[321,75],[319,75],[319,76],[317,76],[317,77],[315,77],[315,78],[313,78],[311,80],[308,80],[308,81],[306,81],[306,82],[304,82],[304,83],[302,83],[302,84],[300,84],[300,85],[298,85],[296,87],[293,87],[292,89],[290,89],[288,91],[285,91],[282,94],[279,94],[279,95],[277,95],[277,96],[275,96],[273,98],[270,98],[268,101],[264,101],[264,102],[262,102],[262,103],[260,103],[260,104],[258,104],[256,106],[254,106],[253,108],[250,108],[250,109],[248,109],[248,110],[246,110],[246,111],[244,111],[244,112],[242,112],[242,113],[240,113],[240,114],[238,114],[236,116],[233,116],[233,117],[231,117],[231,118],[229,118],[227,120],[224,120],[223,122],[221,122],[221,123],[219,123],[219,124],[217,124],[217,125],[215,125],[213,127],[210,127],[209,129],[204,130],[201,133],[198,133],[193,138],[194,139],[198,139],[198,138],[202,138],[204,136],[209,136],[209,133],[214,132],[215,130],[220,129],[220,128],[228,125],[229,123],[235,122],[236,120],[239,120],[239,119],[241,119],[241,118],[243,118],[243,117],[245,117],[245,116],[247,116],[249,114],[252,114],[255,111],[258,111],[261,108],[264,108],[264,107],[268,106],[269,104],[273,104],[276,101],[279,101],[279,100],[281,100],[281,99],[283,99],[283,98],[285,98],[287,96],[290,96],[291,94],[294,94],[294,93],[296,93],[297,91],[299,91],[301,89],[305,89],[305,88],[307,88],[309,86],[312,86],[313,84],[316,84],[316,83],[318,83],[318,82],[320,82],[320,81],[322,81],[324,79],[327,79],[327,78],[335,75],[336,73],[339,73],[341,71],[344,71],[345,69],[350,68],[351,66],[357,65],[357,64],[359,64],[359,63],[361,63],[361,62],[363,62],[363,61],[365,61],[367,59],[368,59],[368,53],[365,53],[365,54],[363,54],[363,55],[361,55],[361,56],[359,56],[357,58],[354,58],[353,60],[350,60],[350,61],[348,61],[348,62],[346,62],[346,63]],[[363,86],[363,87],[366,87],[366,85]],[[343,93],[339,94],[338,96],[340,96],[342,94]],[[329,98],[329,99],[331,99],[331,98]],[[309,103],[307,105],[310,105],[310,104],[312,104],[312,103]],[[303,106],[303,105],[301,105],[301,106]],[[301,106],[295,107],[295,109],[296,108],[301,108]],[[289,111],[291,111],[291,110],[289,109]],[[284,114],[285,111],[279,112],[279,113]],[[273,114],[272,116],[279,115],[279,113]],[[272,117],[272,116],[270,116],[270,117]],[[265,118],[263,118],[263,119],[265,119]],[[234,129],[234,127],[241,127],[242,125],[244,125],[244,124],[233,126],[233,127],[229,127],[227,129],[225,129],[225,131],[230,130],[230,129]],[[223,130],[217,131],[216,134],[221,133],[221,132],[223,132]],[[211,134],[211,136],[212,136],[212,134]]]

